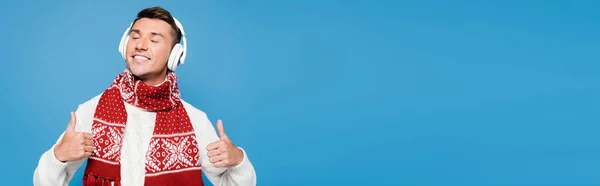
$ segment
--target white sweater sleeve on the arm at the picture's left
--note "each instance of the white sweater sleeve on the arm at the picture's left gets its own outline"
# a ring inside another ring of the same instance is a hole
[[[91,132],[91,122],[89,118],[89,108],[80,105],[75,111],[77,122],[75,124],[75,130],[78,132]],[[89,122],[88,122],[89,121]],[[66,128],[67,122],[64,127]],[[33,173],[33,185],[56,185],[66,186],[69,185],[73,175],[81,167],[85,159],[73,161],[73,162],[61,162],[54,156],[54,147],[62,140],[64,132],[58,137],[56,142],[50,149],[42,154],[38,161],[38,165]]]

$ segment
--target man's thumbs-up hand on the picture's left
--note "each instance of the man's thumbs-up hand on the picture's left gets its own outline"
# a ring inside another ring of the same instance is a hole
[[[86,132],[75,132],[77,119],[71,112],[71,121],[60,142],[54,147],[54,157],[61,162],[71,162],[88,158],[94,152],[93,136]]]

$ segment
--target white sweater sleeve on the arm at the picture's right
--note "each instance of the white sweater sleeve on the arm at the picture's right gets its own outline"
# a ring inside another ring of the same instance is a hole
[[[206,178],[215,186],[255,186],[256,172],[244,149],[238,147],[244,152],[244,159],[235,167],[216,168],[210,163],[206,146],[212,142],[219,141],[217,132],[204,112],[188,113],[193,113],[190,115],[190,119],[196,129],[195,133],[201,153],[200,163],[202,172]]]

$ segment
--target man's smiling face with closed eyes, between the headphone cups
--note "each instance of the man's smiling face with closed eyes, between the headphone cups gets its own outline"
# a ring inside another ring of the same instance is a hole
[[[167,22],[150,18],[137,20],[126,46],[129,70],[144,81],[164,78],[173,40],[172,28]]]

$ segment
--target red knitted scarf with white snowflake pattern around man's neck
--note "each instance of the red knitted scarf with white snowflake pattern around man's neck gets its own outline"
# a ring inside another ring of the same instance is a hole
[[[127,69],[119,74],[94,113],[94,153],[88,158],[83,185],[121,185],[121,145],[127,123],[124,102],[156,112],[148,151],[140,157],[146,164],[145,185],[203,185],[196,136],[179,96],[173,72],[157,86],[134,79]]]

